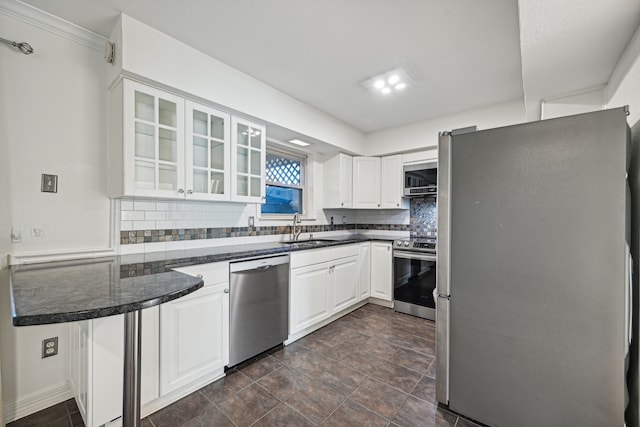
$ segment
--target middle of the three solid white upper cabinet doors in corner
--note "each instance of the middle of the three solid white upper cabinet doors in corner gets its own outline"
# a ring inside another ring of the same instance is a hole
[[[380,207],[380,157],[353,158],[353,207]]]

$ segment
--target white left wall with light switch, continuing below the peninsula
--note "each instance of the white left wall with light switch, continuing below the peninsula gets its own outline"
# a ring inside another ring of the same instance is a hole
[[[12,326],[7,253],[110,243],[102,53],[47,25],[24,22],[30,18],[12,17],[5,9],[9,3],[0,3],[2,37],[27,41],[35,53],[0,45],[0,359],[6,421],[70,397],[69,326]],[[40,192],[41,173],[59,176],[57,194]],[[11,243],[12,225],[21,227],[22,243]],[[44,229],[43,237],[31,237],[35,226]],[[41,359],[41,342],[52,336],[60,338],[60,354]]]

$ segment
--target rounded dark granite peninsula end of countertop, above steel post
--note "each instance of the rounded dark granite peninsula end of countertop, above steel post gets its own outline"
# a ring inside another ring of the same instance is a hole
[[[124,277],[119,257],[11,267],[15,326],[73,322],[153,307],[187,295],[201,278],[168,271]]]

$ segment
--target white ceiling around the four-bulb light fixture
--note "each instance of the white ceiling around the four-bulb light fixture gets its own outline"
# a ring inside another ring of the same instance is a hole
[[[25,0],[108,36],[120,12],[363,132],[603,85],[640,0]],[[416,86],[360,82],[404,68]]]

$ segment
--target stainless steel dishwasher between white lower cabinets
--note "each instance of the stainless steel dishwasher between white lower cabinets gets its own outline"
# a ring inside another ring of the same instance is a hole
[[[229,365],[289,336],[289,255],[229,264]]]

